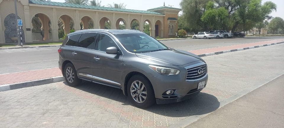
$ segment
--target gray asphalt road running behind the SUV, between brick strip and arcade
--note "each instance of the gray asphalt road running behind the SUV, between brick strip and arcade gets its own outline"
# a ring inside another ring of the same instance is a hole
[[[284,37],[183,39],[161,42],[168,47],[188,51],[283,38]],[[58,67],[58,48],[59,47],[0,50],[0,74]]]

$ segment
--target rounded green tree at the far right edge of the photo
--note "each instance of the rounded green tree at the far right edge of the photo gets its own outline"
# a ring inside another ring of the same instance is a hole
[[[284,30],[284,20],[280,17],[273,18],[268,24],[268,29],[272,31],[273,34],[279,31],[279,29]]]

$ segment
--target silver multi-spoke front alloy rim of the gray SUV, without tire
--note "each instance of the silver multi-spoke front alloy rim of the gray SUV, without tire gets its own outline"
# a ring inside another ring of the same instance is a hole
[[[130,93],[137,103],[143,103],[147,98],[147,90],[141,81],[134,81],[130,87]]]

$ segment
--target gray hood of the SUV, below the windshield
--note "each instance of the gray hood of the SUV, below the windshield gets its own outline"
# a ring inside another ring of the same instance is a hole
[[[137,57],[162,62],[169,65],[185,65],[195,61],[203,61],[199,56],[183,50],[163,50],[155,52],[136,53]]]

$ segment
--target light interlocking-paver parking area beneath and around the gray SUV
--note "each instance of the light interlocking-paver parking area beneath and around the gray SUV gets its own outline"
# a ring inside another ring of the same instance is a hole
[[[0,127],[169,127],[284,71],[284,44],[202,57],[208,65],[206,88],[190,100],[132,106],[120,89],[84,81],[57,82],[0,92]],[[273,62],[273,65],[272,65]]]

